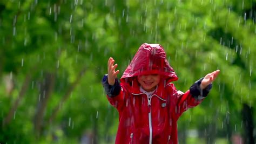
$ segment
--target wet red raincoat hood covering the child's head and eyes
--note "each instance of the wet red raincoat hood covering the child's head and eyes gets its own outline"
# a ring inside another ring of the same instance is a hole
[[[178,80],[176,73],[166,60],[163,46],[159,44],[142,44],[120,81],[131,81],[136,76],[146,74],[160,74],[167,83]]]

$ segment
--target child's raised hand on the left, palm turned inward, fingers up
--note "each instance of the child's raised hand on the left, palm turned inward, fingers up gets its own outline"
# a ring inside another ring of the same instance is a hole
[[[117,64],[114,65],[114,59],[110,57],[109,61],[107,62],[107,82],[110,85],[114,85],[114,81],[119,73],[119,70],[116,71],[116,68]]]

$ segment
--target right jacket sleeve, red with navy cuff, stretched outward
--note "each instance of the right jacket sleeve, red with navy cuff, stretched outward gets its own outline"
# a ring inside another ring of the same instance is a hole
[[[177,91],[173,85],[173,97],[176,99],[174,111],[177,118],[179,118],[179,116],[188,108],[197,106],[203,101],[204,98],[206,98],[207,94],[212,88],[212,84],[201,90],[200,84],[203,79],[204,78],[201,78],[196,81],[196,83],[190,87],[190,90],[186,91],[185,93]]]

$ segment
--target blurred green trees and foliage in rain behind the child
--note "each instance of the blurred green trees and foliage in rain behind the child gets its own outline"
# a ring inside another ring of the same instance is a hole
[[[101,84],[159,43],[178,90],[221,71],[178,121],[179,143],[255,143],[255,0],[0,1],[0,143],[114,143]]]

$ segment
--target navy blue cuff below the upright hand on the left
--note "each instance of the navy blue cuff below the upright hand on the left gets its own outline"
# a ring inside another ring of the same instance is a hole
[[[102,85],[104,87],[105,93],[110,97],[114,97],[118,95],[121,91],[121,85],[118,79],[117,78],[115,79],[114,85],[112,86],[107,82],[107,74],[105,74],[102,79]]]

